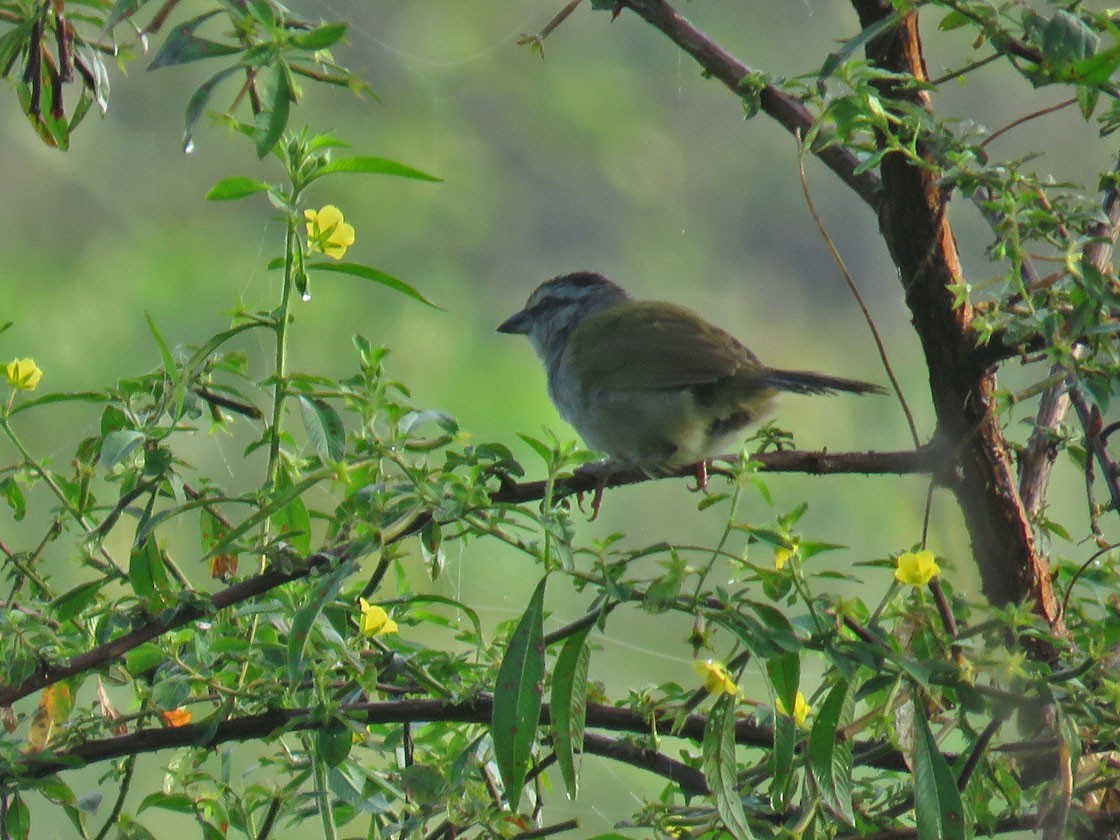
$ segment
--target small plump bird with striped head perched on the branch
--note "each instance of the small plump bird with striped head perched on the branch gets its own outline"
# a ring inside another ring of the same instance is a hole
[[[858,380],[768,367],[691,309],[635,300],[592,271],[541,283],[497,332],[529,337],[549,396],[588,448],[646,473],[697,465],[701,487],[710,459],[764,418],[780,392],[886,393]]]

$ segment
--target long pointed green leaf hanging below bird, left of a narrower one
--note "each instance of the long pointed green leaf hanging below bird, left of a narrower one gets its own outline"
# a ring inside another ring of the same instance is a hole
[[[505,797],[517,810],[541,718],[544,679],[544,585],[536,585],[524,615],[510,636],[494,687],[491,737]]]

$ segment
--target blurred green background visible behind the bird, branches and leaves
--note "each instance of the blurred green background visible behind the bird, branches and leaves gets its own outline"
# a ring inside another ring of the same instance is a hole
[[[409,385],[419,407],[450,412],[474,440],[508,445],[523,457],[529,477],[536,477],[540,465],[515,432],[572,432],[548,402],[528,342],[500,336],[494,327],[540,281],[594,269],[635,296],[698,309],[771,364],[885,383],[868,330],[805,207],[794,141],[765,116],[745,122],[740,104],[721,85],[702,78],[690,58],[628,12],[612,22],[607,13],[580,8],[549,38],[544,60],[517,45],[562,4],[336,0],[296,7],[310,18],[352,22],[336,57],[361,72],[376,99],[307,85],[292,124],[332,130],[355,153],[395,158],[444,178],[438,185],[327,179],[312,200],[338,205],[357,228],[348,259],[400,277],[445,311],[355,279],[319,274],[311,301],[297,307],[292,368],[346,375],[355,368],[352,335],[386,344],[393,351],[390,372]],[[814,73],[838,40],[858,29],[844,0],[681,6],[732,54],[776,76]],[[187,4],[178,13],[185,18]],[[924,21],[932,75],[976,57],[967,35],[942,35],[935,25]],[[256,161],[242,138],[221,128],[200,129],[195,151],[181,153],[186,100],[217,65],[148,73],[146,64],[114,74],[109,114],[88,118],[68,153],[39,142],[10,90],[3,100],[0,320],[16,325],[0,337],[0,357],[32,356],[46,372],[41,390],[100,388],[158,364],[144,312],[172,345],[193,344],[222,329],[235,301],[256,309],[277,300],[279,278],[265,265],[280,253],[282,228],[264,198],[226,204],[203,196],[220,178],[276,180],[278,168]],[[221,88],[215,103],[232,94],[232,87]],[[965,84],[942,85],[935,106],[995,130],[1065,96],[1034,92],[995,65]],[[1112,153],[1068,110],[1010,132],[991,151],[1042,151],[1036,169],[1056,180],[1088,179],[1090,186]],[[928,435],[921,352],[876,220],[814,161],[808,177],[884,334],[920,430]],[[963,200],[952,213],[970,281],[998,274],[1000,267],[984,253],[991,233],[979,214]],[[246,348],[263,374],[270,348]],[[97,416],[88,408],[38,411],[19,431],[34,452],[62,464],[77,439],[96,428]],[[887,398],[790,396],[776,419],[806,449],[909,445],[903,414]],[[233,475],[242,446],[218,436],[193,457],[204,468],[208,459],[208,468],[231,485],[258,480]],[[820,562],[847,569],[920,539],[921,479],[774,475],[766,483],[773,507],[748,494],[740,517],[764,524],[806,500],[806,536],[850,547]],[[1060,478],[1054,497],[1073,498],[1079,488],[1077,476]],[[625,531],[635,545],[711,543],[724,508],[701,513],[697,501],[679,480],[614,491],[601,519],[582,525],[580,536]],[[17,528],[8,515],[0,511],[0,533],[31,526]],[[934,506],[931,548],[955,566],[956,589],[977,595],[948,497]],[[180,563],[189,567],[188,558]],[[418,566],[416,585],[461,598],[492,623],[521,612],[540,573],[523,558],[495,554],[480,542],[451,547],[448,560],[435,585],[423,581]],[[64,580],[69,570],[65,558],[59,561]],[[885,588],[880,572],[865,571],[867,591]],[[561,589],[550,592],[553,626],[586,606]],[[591,672],[613,696],[694,679],[687,625],[632,613],[616,616],[610,629],[609,640],[599,640],[604,650]],[[746,689],[766,699],[759,684]],[[587,762],[588,771],[585,790],[633,788],[619,802],[597,802],[590,814],[586,804],[573,806],[588,831],[635,810],[633,797],[660,788],[648,778],[637,777],[637,784],[606,762]]]

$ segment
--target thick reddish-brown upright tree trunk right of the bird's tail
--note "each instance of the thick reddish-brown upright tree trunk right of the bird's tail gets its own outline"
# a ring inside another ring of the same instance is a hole
[[[894,13],[887,0],[852,0],[860,24],[875,26]],[[917,12],[903,17],[867,45],[868,58],[899,77],[926,78]],[[883,83],[887,99],[928,109],[928,95],[913,86]],[[996,605],[1033,600],[1039,614],[1061,626],[1049,567],[1035,547],[1019,498],[1007,441],[992,408],[995,376],[977,364],[972,309],[958,305],[952,287],[962,271],[936,174],[899,152],[880,170],[884,198],[879,228],[898,267],[906,304],[922,342],[939,431],[960,452],[961,479],[954,486],[984,595]]]

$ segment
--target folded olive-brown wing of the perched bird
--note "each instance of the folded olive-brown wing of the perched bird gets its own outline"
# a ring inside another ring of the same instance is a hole
[[[568,354],[584,382],[617,391],[704,385],[759,364],[732,336],[690,309],[638,300],[580,324]]]

